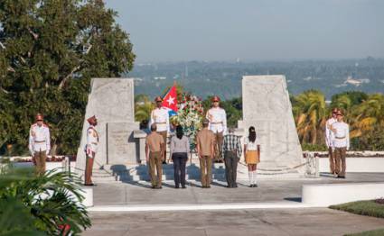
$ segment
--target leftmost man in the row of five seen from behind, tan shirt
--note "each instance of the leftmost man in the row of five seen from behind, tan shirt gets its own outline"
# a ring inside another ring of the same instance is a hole
[[[162,188],[162,161],[165,159],[165,143],[162,135],[156,132],[156,129],[156,124],[151,124],[151,133],[145,138],[145,158],[146,163],[149,163],[152,188]],[[155,175],[155,168],[157,176]]]

